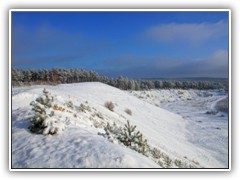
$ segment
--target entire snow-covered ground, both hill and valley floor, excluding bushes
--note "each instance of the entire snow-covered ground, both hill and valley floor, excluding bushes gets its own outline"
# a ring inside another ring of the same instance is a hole
[[[56,135],[29,131],[30,103],[46,88],[54,97],[55,118],[64,126]],[[210,95],[209,95],[210,94]],[[13,88],[12,168],[227,168],[228,117],[215,104],[222,91],[122,91],[102,83]],[[66,106],[67,102],[73,106]],[[105,107],[112,101],[114,111]],[[81,105],[82,104],[82,105]],[[77,111],[78,107],[85,110]],[[126,113],[130,109],[132,115]],[[163,158],[140,154],[106,139],[107,123],[136,125]]]

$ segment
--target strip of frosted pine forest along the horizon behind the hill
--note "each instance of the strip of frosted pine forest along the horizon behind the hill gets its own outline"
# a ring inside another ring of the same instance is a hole
[[[102,82],[122,90],[148,89],[225,89],[228,91],[227,79],[129,79],[127,77],[108,78],[95,71],[83,69],[16,69],[12,68],[12,86],[40,84],[70,84],[79,82]]]

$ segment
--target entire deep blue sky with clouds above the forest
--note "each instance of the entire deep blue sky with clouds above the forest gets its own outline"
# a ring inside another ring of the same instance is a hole
[[[13,12],[12,65],[227,77],[227,12]]]

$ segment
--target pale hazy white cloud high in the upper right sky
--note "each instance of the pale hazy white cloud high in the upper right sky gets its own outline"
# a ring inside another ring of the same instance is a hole
[[[217,23],[170,23],[150,27],[145,35],[160,42],[173,42],[185,40],[188,42],[203,42],[213,38],[228,35],[228,23],[219,21]]]

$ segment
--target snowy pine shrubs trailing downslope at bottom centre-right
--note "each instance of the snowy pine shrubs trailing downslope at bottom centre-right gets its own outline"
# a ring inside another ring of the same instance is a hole
[[[130,125],[129,121],[124,127],[119,127],[115,123],[104,127],[105,134],[103,135],[112,143],[123,144],[148,158],[152,159],[162,168],[197,168],[192,162],[187,163],[179,159],[171,159],[166,153],[161,152],[156,147],[151,147],[147,140],[143,138],[142,133],[136,131],[136,126]]]

